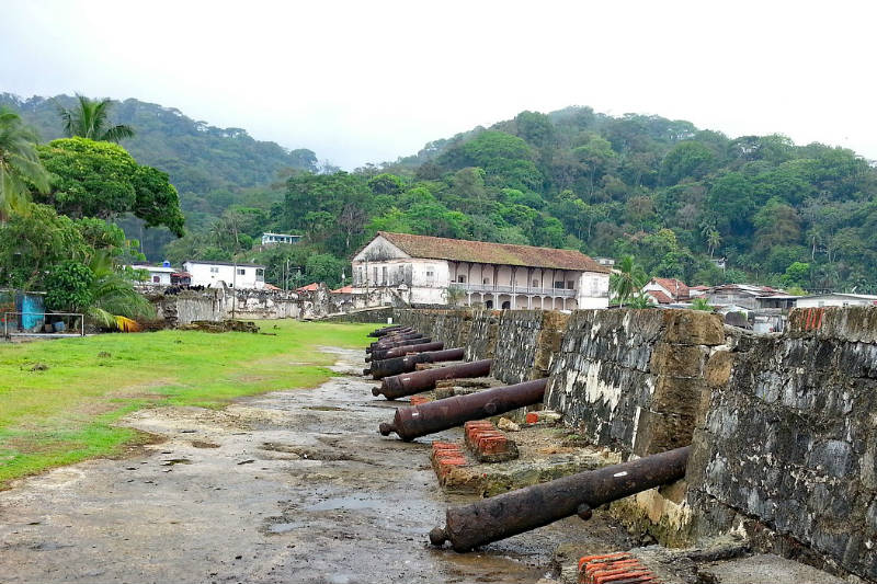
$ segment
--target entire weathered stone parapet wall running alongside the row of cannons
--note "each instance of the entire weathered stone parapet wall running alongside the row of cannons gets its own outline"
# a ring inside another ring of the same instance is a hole
[[[396,320],[445,342],[468,332],[455,346],[494,357],[505,382],[548,375],[546,406],[595,445],[691,442],[685,481],[613,504],[659,541],[745,530],[755,549],[877,580],[877,308],[797,310],[771,335],[683,310]]]

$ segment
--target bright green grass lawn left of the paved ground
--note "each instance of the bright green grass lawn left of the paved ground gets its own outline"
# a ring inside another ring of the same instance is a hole
[[[375,324],[259,321],[263,332],[161,331],[0,344],[0,489],[143,440],[113,425],[155,405],[219,408],[334,374],[320,345],[361,347]],[[36,364],[47,366],[41,370]]]

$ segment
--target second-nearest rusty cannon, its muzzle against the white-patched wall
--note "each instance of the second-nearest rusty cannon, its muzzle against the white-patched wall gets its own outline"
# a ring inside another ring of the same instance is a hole
[[[410,442],[420,436],[463,425],[469,420],[483,420],[542,403],[547,383],[547,379],[536,379],[410,408],[399,408],[391,423],[380,424],[380,434],[389,436],[395,432],[405,442]]]

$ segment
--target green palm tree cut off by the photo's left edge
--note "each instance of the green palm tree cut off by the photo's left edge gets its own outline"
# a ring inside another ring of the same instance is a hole
[[[32,187],[48,192],[48,173],[35,145],[36,135],[19,114],[0,108],[0,221],[24,208]]]

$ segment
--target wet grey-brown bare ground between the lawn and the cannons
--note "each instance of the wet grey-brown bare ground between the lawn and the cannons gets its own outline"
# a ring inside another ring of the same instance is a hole
[[[338,354],[362,368],[360,351]],[[0,493],[0,581],[532,583],[557,543],[588,537],[568,519],[480,553],[431,549],[426,533],[462,500],[437,488],[426,444],[378,436],[394,405],[371,387],[340,377],[129,416],[167,440]]]

